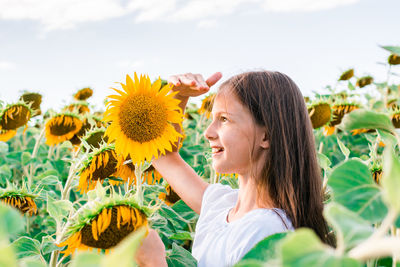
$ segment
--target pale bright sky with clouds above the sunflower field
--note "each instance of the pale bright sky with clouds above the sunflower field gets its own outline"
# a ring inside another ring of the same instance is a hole
[[[89,86],[101,107],[135,71],[220,71],[222,82],[266,69],[304,95],[349,68],[385,81],[380,46],[400,45],[398,10],[399,0],[0,0],[0,100],[28,90],[43,95],[42,109],[61,110]]]

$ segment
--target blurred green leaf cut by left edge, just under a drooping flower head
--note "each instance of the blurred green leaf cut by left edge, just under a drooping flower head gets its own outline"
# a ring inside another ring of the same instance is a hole
[[[0,239],[24,230],[25,219],[16,209],[0,203]]]

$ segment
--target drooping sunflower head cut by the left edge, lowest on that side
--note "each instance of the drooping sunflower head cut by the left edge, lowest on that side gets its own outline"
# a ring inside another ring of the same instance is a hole
[[[33,216],[37,213],[37,206],[34,199],[37,195],[29,193],[25,187],[16,188],[8,185],[0,189],[0,201],[18,209],[22,214]]]

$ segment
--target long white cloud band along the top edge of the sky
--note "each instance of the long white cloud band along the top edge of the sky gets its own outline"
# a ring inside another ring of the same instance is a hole
[[[265,11],[318,11],[351,5],[360,0],[0,0],[0,19],[34,20],[45,31],[68,29],[130,15],[136,22],[215,20],[243,10],[245,4]]]

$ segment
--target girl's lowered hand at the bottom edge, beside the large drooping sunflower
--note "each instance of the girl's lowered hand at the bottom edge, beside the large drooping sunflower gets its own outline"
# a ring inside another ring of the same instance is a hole
[[[136,263],[140,267],[168,266],[165,257],[164,243],[155,230],[149,229],[149,233],[136,251]]]

